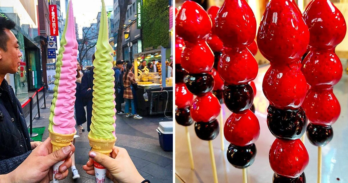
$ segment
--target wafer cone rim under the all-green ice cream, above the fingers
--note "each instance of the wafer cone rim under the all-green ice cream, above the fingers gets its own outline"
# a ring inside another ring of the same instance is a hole
[[[109,155],[112,151],[112,147],[115,145],[116,138],[109,140],[109,139],[89,139],[89,145],[92,147],[92,151],[100,152],[106,155]]]

